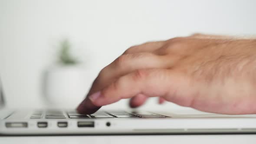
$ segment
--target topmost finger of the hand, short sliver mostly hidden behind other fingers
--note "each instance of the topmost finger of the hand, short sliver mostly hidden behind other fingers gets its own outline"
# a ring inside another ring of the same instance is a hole
[[[127,49],[124,54],[131,54],[131,53],[140,53],[140,52],[153,52],[156,49],[161,48],[164,46],[166,41],[158,41],[158,42],[148,42],[138,46],[131,46]]]

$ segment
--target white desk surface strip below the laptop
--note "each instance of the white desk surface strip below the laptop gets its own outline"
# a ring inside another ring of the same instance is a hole
[[[0,137],[0,144],[256,144],[256,134]]]

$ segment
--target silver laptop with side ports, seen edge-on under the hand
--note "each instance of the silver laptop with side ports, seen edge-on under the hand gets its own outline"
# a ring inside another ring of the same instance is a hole
[[[97,111],[9,109],[0,82],[0,135],[224,134],[256,133],[256,115],[194,111]]]

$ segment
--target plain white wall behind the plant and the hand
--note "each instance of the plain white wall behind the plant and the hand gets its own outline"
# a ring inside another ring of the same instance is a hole
[[[129,46],[194,32],[256,34],[255,7],[255,0],[0,0],[0,75],[7,104],[43,105],[42,73],[53,65],[64,37],[90,73],[86,93],[99,70]]]

